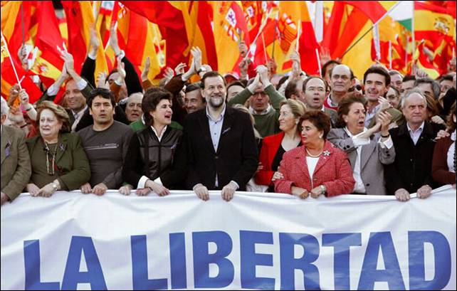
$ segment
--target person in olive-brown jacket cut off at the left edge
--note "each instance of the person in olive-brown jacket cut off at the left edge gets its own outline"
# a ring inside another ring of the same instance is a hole
[[[25,134],[4,126],[8,114],[6,102],[1,104],[1,205],[13,201],[26,186],[31,175],[30,156]]]

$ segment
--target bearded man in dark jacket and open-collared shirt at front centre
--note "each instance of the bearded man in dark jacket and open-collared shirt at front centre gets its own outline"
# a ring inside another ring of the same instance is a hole
[[[208,189],[221,189],[222,198],[230,201],[236,190],[245,191],[258,166],[252,123],[246,113],[226,106],[222,75],[206,73],[201,86],[206,108],[188,115],[184,125],[186,185],[204,201]]]

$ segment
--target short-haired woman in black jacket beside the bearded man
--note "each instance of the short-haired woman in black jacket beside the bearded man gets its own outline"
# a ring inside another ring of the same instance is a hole
[[[145,129],[137,132],[130,142],[122,177],[136,186],[137,195],[154,191],[159,196],[177,189],[183,173],[174,169],[174,155],[182,138],[182,131],[169,127],[172,122],[172,95],[167,90],[151,88],[145,92],[142,110]]]

